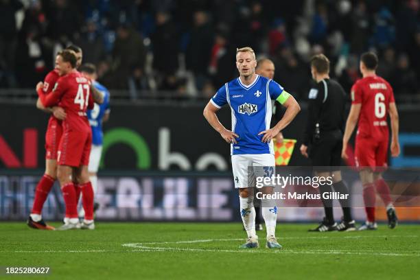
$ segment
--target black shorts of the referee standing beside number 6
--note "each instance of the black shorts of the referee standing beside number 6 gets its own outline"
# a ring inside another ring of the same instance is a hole
[[[312,142],[310,159],[318,172],[340,170],[342,131],[331,130],[320,133],[320,139]]]

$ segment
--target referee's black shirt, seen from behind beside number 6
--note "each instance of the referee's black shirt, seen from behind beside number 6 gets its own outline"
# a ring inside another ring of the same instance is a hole
[[[322,132],[345,129],[346,93],[335,80],[325,79],[316,83],[308,95],[309,116],[303,136],[303,144],[314,139],[316,124]]]

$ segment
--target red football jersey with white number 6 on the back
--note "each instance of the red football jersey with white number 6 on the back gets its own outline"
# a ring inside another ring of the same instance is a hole
[[[377,75],[362,78],[353,84],[351,104],[362,104],[358,137],[377,140],[388,137],[386,117],[391,102],[395,102],[393,88]]]

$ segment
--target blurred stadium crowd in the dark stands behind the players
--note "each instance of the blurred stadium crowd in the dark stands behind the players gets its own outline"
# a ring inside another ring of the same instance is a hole
[[[375,50],[397,101],[420,102],[419,0],[0,0],[0,88],[34,88],[73,43],[109,89],[209,97],[237,75],[236,47],[275,62],[296,100],[309,59],[331,59],[349,92]]]

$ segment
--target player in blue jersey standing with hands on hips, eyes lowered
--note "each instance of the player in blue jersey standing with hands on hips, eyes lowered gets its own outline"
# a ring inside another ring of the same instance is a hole
[[[253,185],[248,183],[248,166],[275,167],[272,139],[296,117],[299,104],[277,82],[255,73],[257,61],[250,47],[237,49],[236,67],[239,78],[226,82],[207,104],[204,115],[220,136],[231,143],[232,170],[235,188],[240,194],[240,213],[248,239],[241,248],[257,248]],[[283,118],[270,129],[271,100],[286,107]],[[232,112],[232,129],[226,129],[216,115],[222,106],[229,104]],[[266,193],[272,192],[267,187]],[[267,231],[267,248],[281,248],[275,237],[277,207],[262,210]]]

